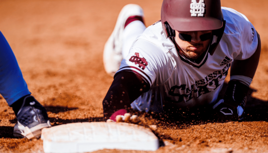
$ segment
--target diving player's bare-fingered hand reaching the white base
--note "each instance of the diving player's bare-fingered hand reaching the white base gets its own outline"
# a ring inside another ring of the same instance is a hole
[[[130,113],[127,113],[125,109],[120,109],[114,112],[106,122],[138,123],[139,119],[137,115],[131,115]]]

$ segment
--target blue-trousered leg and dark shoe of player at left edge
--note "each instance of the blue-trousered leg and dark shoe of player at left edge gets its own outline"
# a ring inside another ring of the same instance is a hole
[[[15,137],[38,139],[42,128],[51,127],[45,108],[31,96],[16,57],[1,31],[0,93],[17,117]]]

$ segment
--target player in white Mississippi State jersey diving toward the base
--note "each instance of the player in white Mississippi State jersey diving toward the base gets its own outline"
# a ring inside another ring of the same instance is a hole
[[[219,118],[242,120],[261,51],[245,15],[220,0],[164,0],[160,21],[146,28],[143,17],[138,5],[123,7],[105,44],[104,67],[114,80],[104,117],[123,121],[131,109],[175,116],[180,108],[211,107]]]

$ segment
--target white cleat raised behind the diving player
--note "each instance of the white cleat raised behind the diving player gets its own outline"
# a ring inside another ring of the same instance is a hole
[[[128,17],[144,17],[142,8],[137,4],[127,4],[119,13],[116,25],[111,36],[105,43],[103,51],[103,64],[106,72],[113,76],[121,65],[123,30]]]

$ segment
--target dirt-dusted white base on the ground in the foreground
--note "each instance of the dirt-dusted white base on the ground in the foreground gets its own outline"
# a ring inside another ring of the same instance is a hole
[[[45,153],[91,152],[101,149],[156,151],[158,138],[145,127],[116,122],[82,122],[42,130]]]

